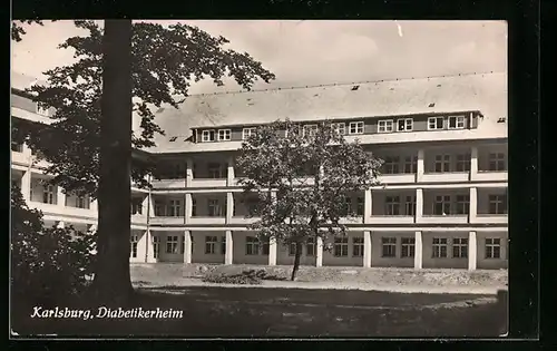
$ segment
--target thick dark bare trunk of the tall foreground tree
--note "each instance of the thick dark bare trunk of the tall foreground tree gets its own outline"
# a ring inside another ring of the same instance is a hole
[[[94,292],[106,304],[123,305],[133,294],[129,275],[131,163],[131,20],[106,20],[98,240]]]

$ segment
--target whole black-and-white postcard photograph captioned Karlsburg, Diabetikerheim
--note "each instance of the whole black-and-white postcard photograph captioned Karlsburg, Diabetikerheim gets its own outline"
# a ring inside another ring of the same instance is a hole
[[[11,337],[505,338],[507,45],[13,20]]]

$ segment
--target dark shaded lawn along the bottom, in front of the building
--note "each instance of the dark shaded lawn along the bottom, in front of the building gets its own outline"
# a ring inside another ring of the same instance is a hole
[[[91,337],[497,337],[506,316],[495,300],[461,294],[167,286],[139,289],[133,306],[179,310],[180,319],[31,319],[31,306],[12,309],[12,330],[20,335]]]

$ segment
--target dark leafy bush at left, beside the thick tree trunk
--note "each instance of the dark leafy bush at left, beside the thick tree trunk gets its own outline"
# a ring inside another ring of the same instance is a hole
[[[56,305],[86,290],[92,274],[95,235],[45,227],[19,187],[11,192],[11,296],[13,302]]]

